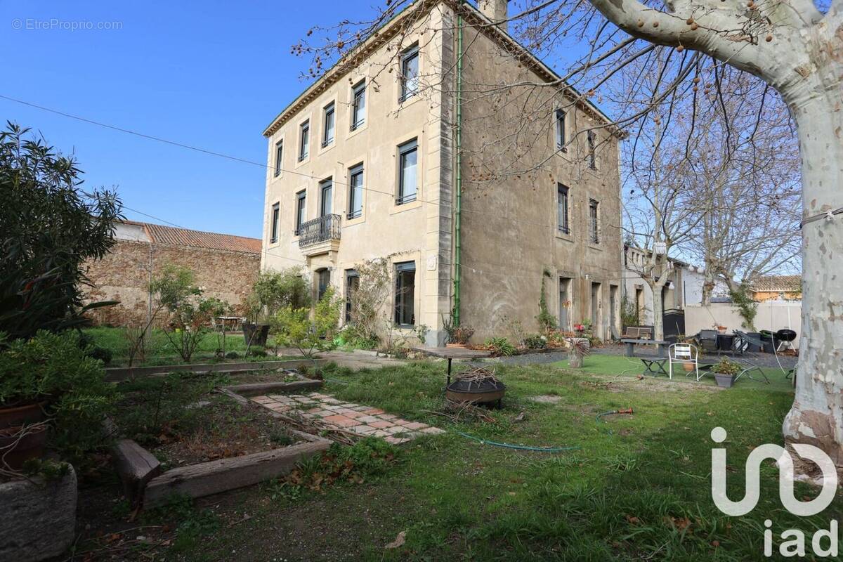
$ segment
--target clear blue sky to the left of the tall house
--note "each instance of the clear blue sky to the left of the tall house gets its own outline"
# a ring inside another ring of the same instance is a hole
[[[317,21],[368,8],[339,0],[67,3],[0,0],[0,95],[257,162],[261,131],[306,84],[290,54]],[[121,29],[34,29],[40,22]],[[15,29],[15,28],[20,29]],[[0,117],[73,152],[85,185],[180,226],[260,237],[264,169],[0,99]],[[126,211],[126,217],[152,221]]]

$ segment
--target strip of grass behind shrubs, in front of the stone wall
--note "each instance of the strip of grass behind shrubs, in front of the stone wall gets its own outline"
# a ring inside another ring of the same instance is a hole
[[[129,341],[126,340],[125,330],[121,328],[109,328],[105,326],[97,328],[86,328],[82,330],[84,334],[89,335],[96,347],[105,347],[112,353],[112,359],[109,367],[126,367],[128,365]],[[266,341],[267,349],[271,349],[275,345],[272,336]],[[216,357],[214,351],[223,348],[222,336],[217,332],[209,332],[196,347],[196,353],[191,358],[192,362],[212,361]],[[167,339],[162,329],[153,329],[152,338],[148,345],[148,352],[146,361],[135,360],[134,367],[154,367],[158,365],[178,365],[183,363],[178,351]],[[246,352],[246,342],[243,333],[228,333],[225,337],[225,351],[235,351],[239,358],[232,361],[266,361],[265,357],[250,356],[244,357]],[[276,361],[279,357],[271,356],[268,359]]]

